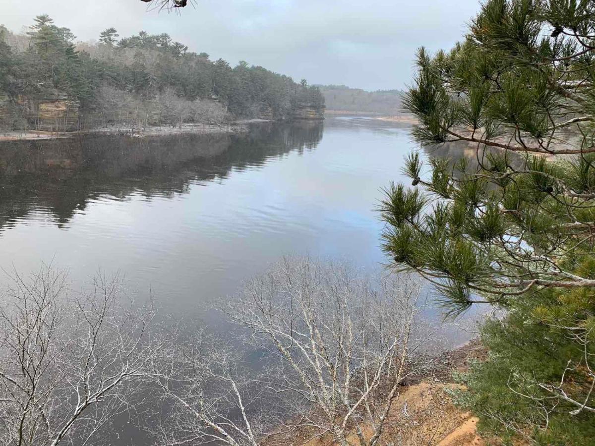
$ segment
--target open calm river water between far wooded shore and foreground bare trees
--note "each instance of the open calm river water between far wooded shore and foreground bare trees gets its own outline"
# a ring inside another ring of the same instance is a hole
[[[375,265],[380,188],[413,147],[409,127],[365,118],[4,143],[0,266],[53,259],[74,284],[120,270],[188,315],[287,253]]]

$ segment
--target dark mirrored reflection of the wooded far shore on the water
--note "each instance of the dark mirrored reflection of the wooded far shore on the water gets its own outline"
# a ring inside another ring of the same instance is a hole
[[[67,223],[89,200],[187,193],[190,184],[317,147],[322,123],[259,124],[247,134],[81,136],[0,145],[0,228],[34,211]]]

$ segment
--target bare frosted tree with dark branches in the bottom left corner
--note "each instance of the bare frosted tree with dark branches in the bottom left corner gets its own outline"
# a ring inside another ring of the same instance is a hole
[[[118,277],[73,296],[43,266],[15,274],[0,309],[0,444],[89,445],[129,409],[167,344],[151,307],[125,306]]]

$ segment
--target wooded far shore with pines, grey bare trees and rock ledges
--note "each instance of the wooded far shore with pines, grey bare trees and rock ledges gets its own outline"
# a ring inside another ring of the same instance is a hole
[[[322,117],[306,80],[189,51],[168,34],[123,37],[108,28],[77,42],[39,15],[29,31],[0,26],[0,130],[146,129],[237,119]]]

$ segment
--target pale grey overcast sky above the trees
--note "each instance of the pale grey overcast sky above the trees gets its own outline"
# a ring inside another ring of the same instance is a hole
[[[13,31],[45,13],[80,40],[110,26],[121,37],[168,33],[211,59],[366,90],[408,85],[415,49],[450,48],[479,8],[479,0],[197,0],[178,15],[139,0],[1,1],[0,23]]]

